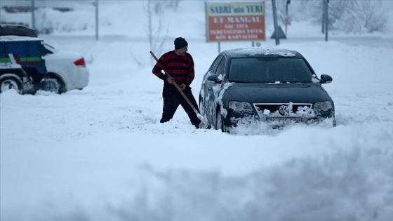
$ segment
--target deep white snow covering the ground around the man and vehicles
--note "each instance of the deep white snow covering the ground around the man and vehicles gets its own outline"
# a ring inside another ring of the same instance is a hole
[[[1,93],[0,220],[393,220],[392,28],[326,42],[320,27],[294,22],[279,46],[262,42],[299,51],[333,77],[324,88],[338,125],[253,123],[227,134],[196,130],[181,107],[159,123],[162,81],[141,8],[102,1],[100,41],[93,29],[41,36],[84,53],[83,91]],[[197,97],[218,53],[205,41],[204,3],[182,1],[166,19],[161,53],[187,39]]]

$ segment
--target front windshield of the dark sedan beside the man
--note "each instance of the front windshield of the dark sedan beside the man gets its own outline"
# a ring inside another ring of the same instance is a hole
[[[302,58],[232,58],[228,78],[241,83],[310,83],[312,72]]]

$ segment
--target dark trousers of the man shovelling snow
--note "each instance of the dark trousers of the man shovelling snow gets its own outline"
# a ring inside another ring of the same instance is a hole
[[[192,95],[191,88],[187,86],[187,88],[185,88],[185,90],[182,92],[185,93],[188,100],[199,112],[199,108],[198,105],[196,105],[196,101],[194,95]],[[198,128],[201,120],[198,118],[198,116],[196,116],[192,107],[189,106],[187,100],[183,98],[183,96],[180,94],[178,89],[175,88],[175,86],[164,84],[164,88],[162,90],[162,98],[164,99],[164,107],[162,108],[162,118],[160,120],[160,123],[165,123],[171,120],[176,112],[176,109],[178,109],[179,105],[182,105],[192,125]]]

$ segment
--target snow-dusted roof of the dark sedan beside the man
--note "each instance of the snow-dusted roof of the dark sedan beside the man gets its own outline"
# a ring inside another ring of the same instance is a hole
[[[237,48],[221,52],[229,58],[247,58],[247,57],[292,57],[303,58],[297,51],[277,48]]]

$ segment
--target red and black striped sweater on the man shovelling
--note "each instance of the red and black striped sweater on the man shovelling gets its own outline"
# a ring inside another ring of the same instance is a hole
[[[166,81],[168,76],[161,72],[163,69],[175,79],[178,85],[185,83],[189,86],[194,80],[194,60],[189,53],[179,56],[175,51],[168,51],[156,62],[152,70],[153,74],[164,80],[165,83],[168,83]]]

